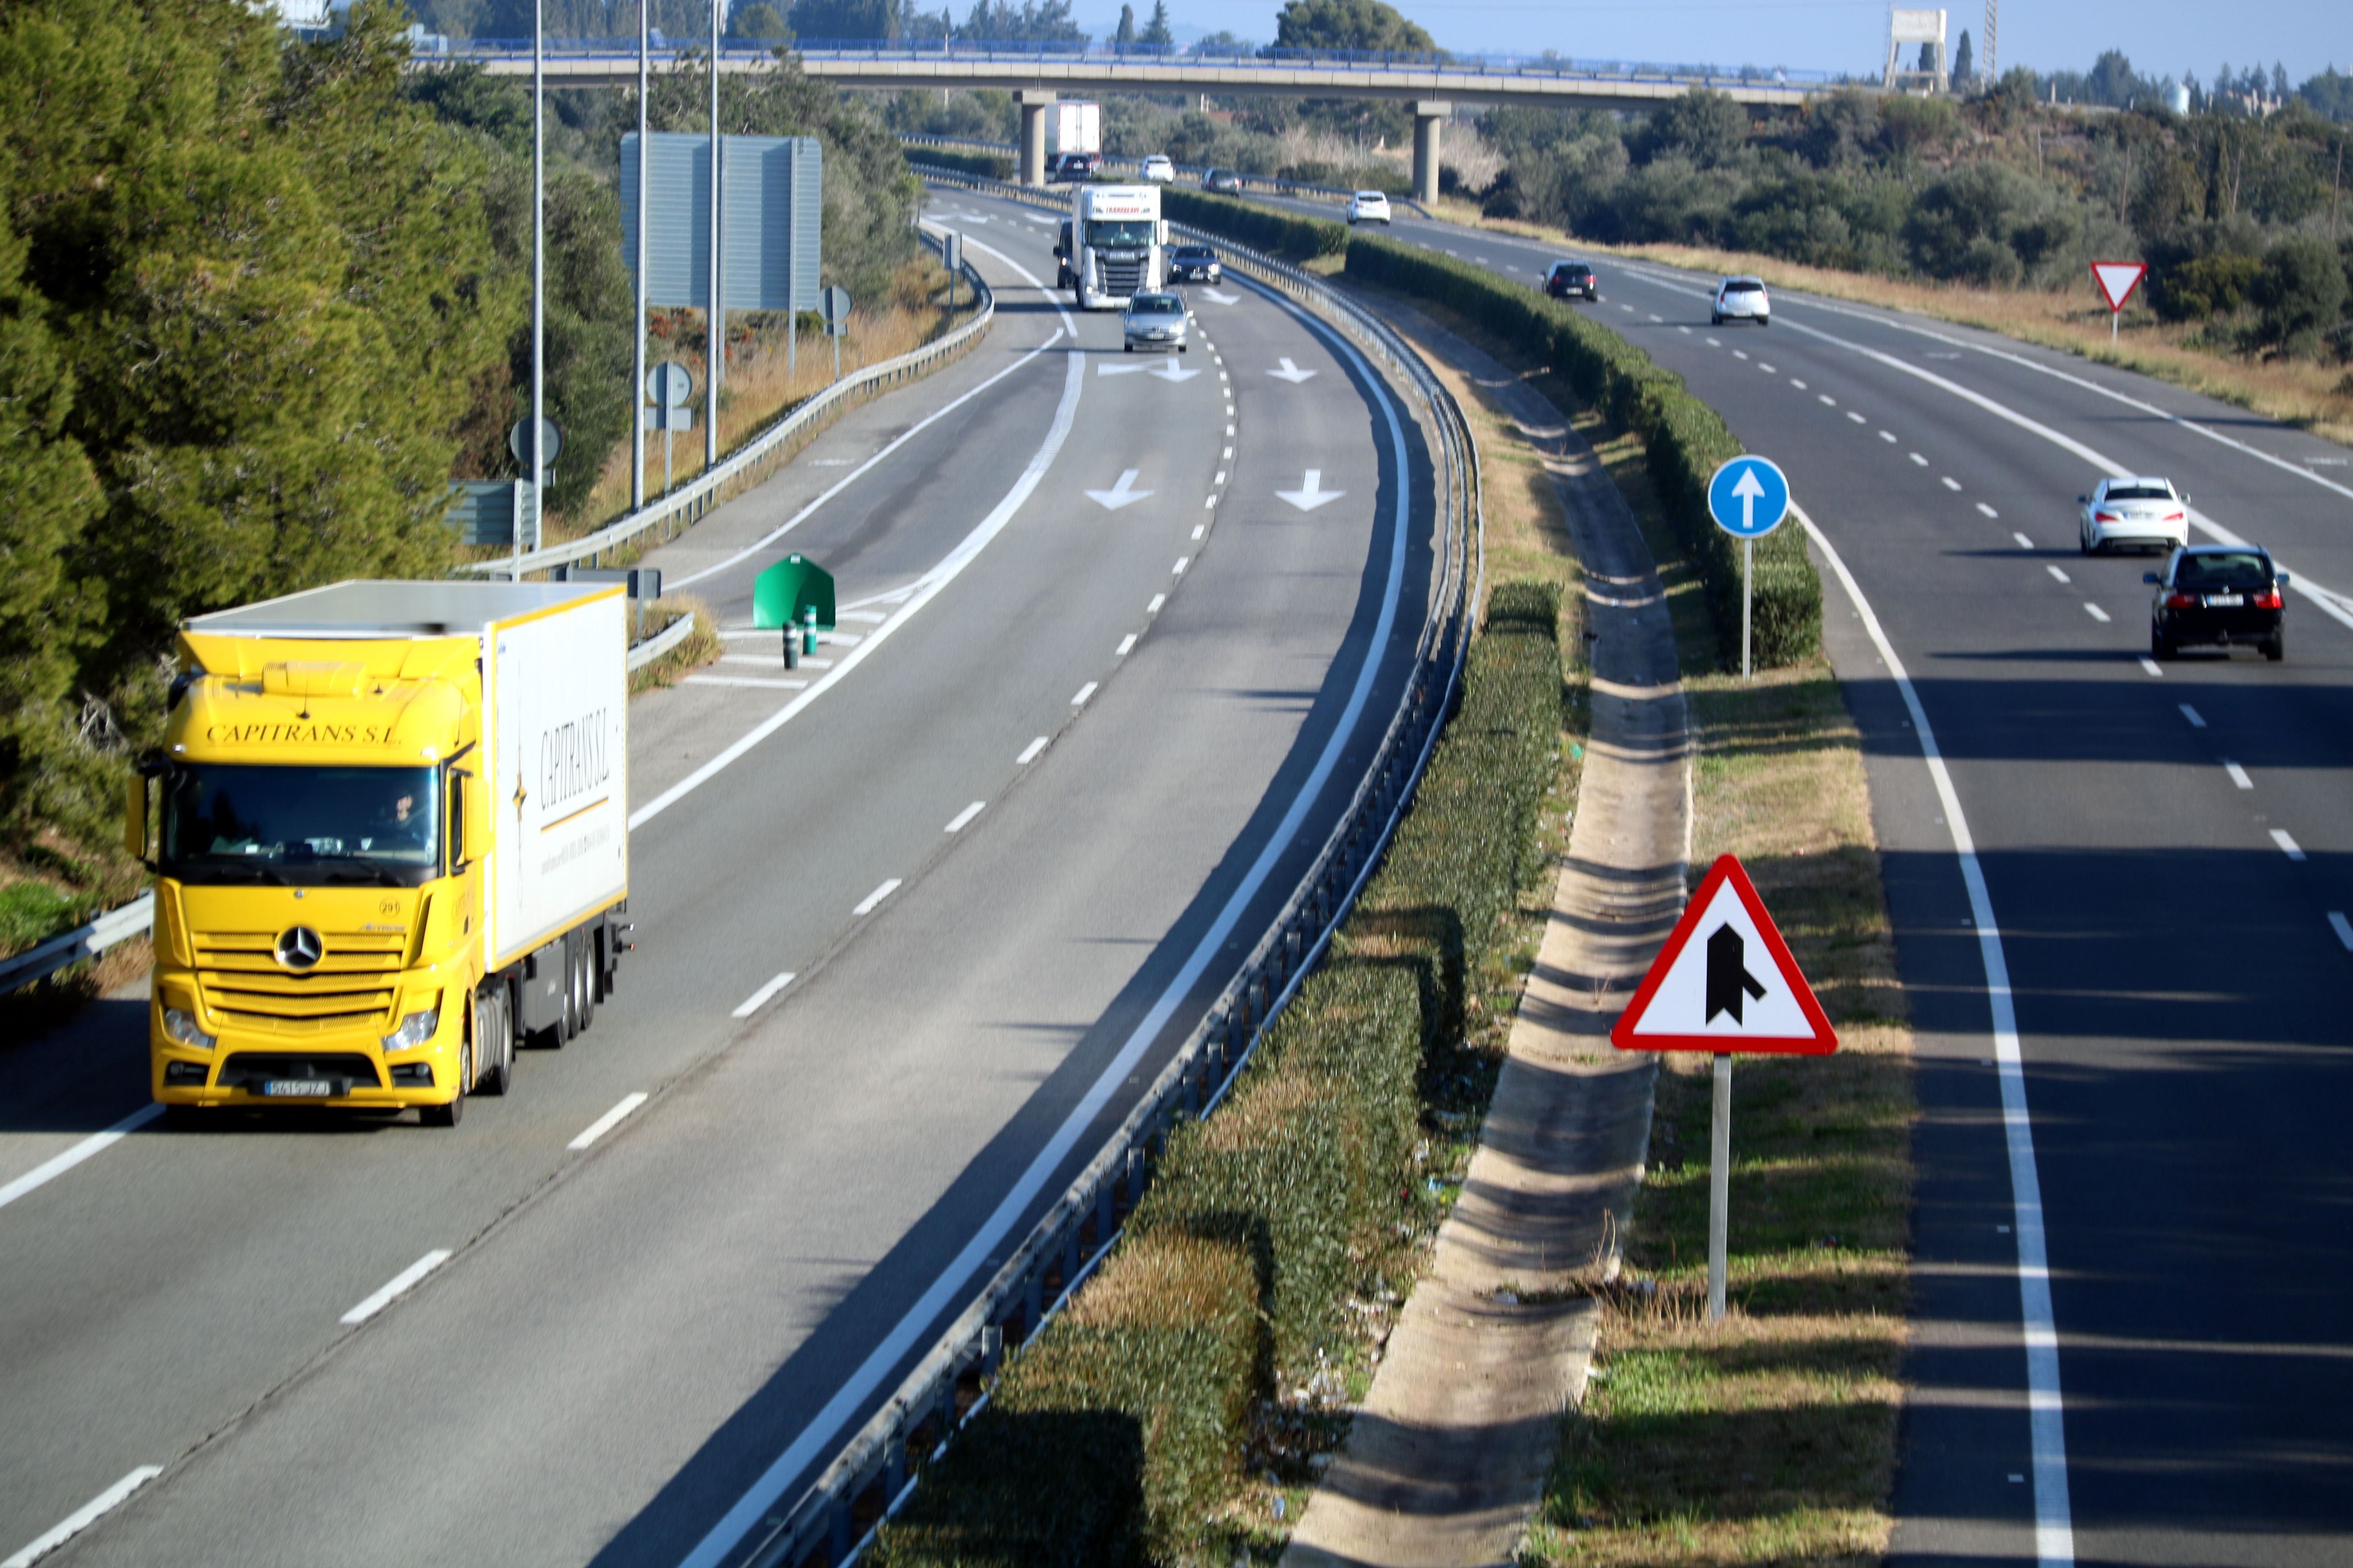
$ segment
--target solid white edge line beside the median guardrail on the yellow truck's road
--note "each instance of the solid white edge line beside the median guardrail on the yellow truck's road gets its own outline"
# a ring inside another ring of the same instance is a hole
[[[1266,289],[1261,289],[1261,294],[1264,292]],[[1012,1234],[1012,1227],[1019,1222],[1021,1213],[1038,1199],[1040,1192],[1045,1192],[1047,1180],[1054,1175],[1061,1161],[1068,1159],[1071,1150],[1087,1133],[1087,1128],[1094,1126],[1094,1119],[1111,1103],[1113,1091],[1120,1084],[1125,1084],[1127,1077],[1136,1070],[1136,1063],[1144,1060],[1144,1053],[1160,1037],[1160,1030],[1167,1027],[1169,1018],[1191,994],[1193,985],[1200,983],[1200,976],[1217,959],[1226,938],[1233,933],[1233,929],[1242,919],[1242,912],[1249,907],[1249,900],[1259,896],[1259,889],[1273,875],[1275,863],[1299,837],[1299,830],[1306,823],[1306,816],[1313,809],[1315,797],[1322,795],[1325,785],[1332,780],[1332,771],[1339,766],[1341,755],[1346,752],[1351,738],[1355,736],[1355,726],[1365,715],[1365,703],[1372,698],[1372,684],[1381,672],[1381,651],[1388,649],[1388,639],[1395,632],[1398,602],[1405,590],[1405,541],[1412,534],[1412,487],[1402,482],[1405,475],[1412,473],[1407,468],[1405,425],[1398,418],[1398,409],[1391,402],[1388,388],[1381,383],[1379,376],[1374,376],[1372,367],[1365,362],[1365,357],[1355,350],[1353,343],[1348,343],[1344,336],[1339,336],[1315,317],[1306,315],[1289,301],[1273,294],[1271,299],[1292,317],[1297,317],[1301,324],[1306,324],[1315,336],[1325,339],[1325,343],[1348,355],[1348,360],[1358,367],[1365,386],[1374,390],[1374,397],[1381,404],[1381,414],[1388,421],[1391,456],[1395,461],[1395,473],[1400,477],[1400,482],[1391,487],[1395,496],[1391,512],[1393,524],[1388,531],[1388,585],[1381,592],[1381,614],[1372,628],[1372,637],[1365,644],[1365,663],[1358,668],[1355,686],[1348,693],[1348,703],[1341,710],[1339,722],[1332,726],[1332,738],[1325,743],[1322,755],[1315,759],[1315,766],[1308,771],[1306,780],[1301,780],[1299,792],[1292,797],[1289,809],[1282,813],[1282,820],[1273,827],[1273,832],[1266,837],[1266,844],[1259,849],[1257,860],[1252,860],[1249,870],[1242,875],[1242,882],[1226,898],[1226,905],[1217,912],[1217,919],[1209,922],[1209,929],[1202,931],[1200,940],[1193,945],[1193,952],[1186,957],[1184,969],[1176,971],[1176,976],[1153,1001],[1151,1011],[1127,1034],[1127,1041],[1120,1046],[1118,1056],[1113,1056],[1111,1063],[1106,1063],[1104,1072],[1094,1079],[1094,1086],[1087,1088],[1085,1098],[1075,1107],[1071,1107],[1071,1114],[1064,1117],[1059,1128],[1054,1128],[1054,1135],[1045,1143],[1045,1147],[1038,1150],[1028,1168],[1019,1175],[1019,1180],[1014,1180],[1012,1190],[1007,1190],[1005,1199],[995,1206],[995,1211],[979,1227],[974,1227],[972,1239],[965,1241],[962,1251],[948,1262],[948,1267],[941,1269],[941,1274],[929,1284],[929,1288],[925,1288],[925,1293],[915,1300],[915,1305],[906,1309],[906,1314],[892,1326],[892,1331],[882,1338],[882,1342],[866,1354],[866,1359],[856,1366],[856,1371],[852,1371],[842,1380],[842,1385],[833,1392],[833,1399],[828,1399],[826,1406],[809,1420],[809,1425],[800,1429],[800,1436],[795,1436],[793,1443],[781,1455],[776,1455],[776,1462],[769,1465],[758,1481],[753,1481],[753,1486],[736,1500],[734,1507],[727,1509],[727,1514],[715,1526],[711,1526],[711,1530],[701,1537],[701,1542],[696,1542],[694,1549],[682,1559],[680,1568],[718,1568],[718,1563],[727,1559],[727,1554],[767,1514],[767,1509],[774,1507],[774,1502],[784,1495],[784,1488],[791,1486],[793,1479],[798,1479],[800,1472],[805,1472],[816,1460],[816,1455],[824,1453],[838,1439],[840,1429],[849,1422],[856,1408],[875,1394],[875,1389],[882,1385],[889,1371],[915,1347],[922,1331],[929,1328],[939,1319],[939,1314],[953,1305],[960,1291],[965,1291],[972,1274],[981,1269],[981,1265],[986,1265],[991,1253],[995,1253],[1005,1244],[1005,1239]],[[1073,355],[1073,362],[1078,357]]]

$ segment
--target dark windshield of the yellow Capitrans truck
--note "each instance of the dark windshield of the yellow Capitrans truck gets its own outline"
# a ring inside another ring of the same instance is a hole
[[[179,766],[165,780],[165,875],[416,886],[440,863],[438,799],[435,769]]]

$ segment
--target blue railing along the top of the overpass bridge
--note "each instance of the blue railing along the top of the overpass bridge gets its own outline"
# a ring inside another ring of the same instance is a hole
[[[701,54],[704,38],[654,38],[654,52],[664,59],[678,54]],[[548,59],[635,59],[635,38],[548,38],[541,45]],[[1840,78],[1831,71],[1798,71],[1793,66],[1708,66],[1708,63],[1659,63],[1619,59],[1569,59],[1565,54],[1449,54],[1445,49],[1200,49],[1193,45],[1111,45],[1087,42],[991,42],[991,40],[894,40],[894,38],[802,38],[791,52],[807,61],[958,61],[958,63],[1016,63],[1016,66],[1217,66],[1221,71],[1398,71],[1428,75],[1518,75],[1518,78],[1574,78],[1598,82],[1687,82],[1694,87],[1831,87]],[[529,59],[529,38],[440,38],[428,35],[416,45],[419,59],[485,61]],[[755,61],[776,54],[774,42],[758,38],[722,38],[720,56],[729,61]]]

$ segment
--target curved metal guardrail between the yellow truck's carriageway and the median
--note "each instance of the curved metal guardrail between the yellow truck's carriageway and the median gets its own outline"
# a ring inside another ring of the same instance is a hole
[[[922,169],[941,186],[984,190],[1033,207],[1049,202],[1021,186],[958,172]],[[1181,233],[1200,235],[1198,230]],[[1454,708],[1471,625],[1485,588],[1485,527],[1478,449],[1461,407],[1428,364],[1386,322],[1358,308],[1320,277],[1247,247],[1219,240],[1226,266],[1280,289],[1341,331],[1391,381],[1412,393],[1412,416],[1433,437],[1440,482],[1440,557],[1431,604],[1414,644],[1414,672],[1355,797],[1325,839],[1266,936],[1217,997],[1202,1023],[1169,1058],[1120,1131],[1078,1173],[1028,1239],[988,1279],[896,1392],[842,1443],[819,1479],[767,1521],[767,1530],[732,1561],[748,1568],[845,1568],[873,1530],[906,1505],[913,1472],[936,1458],[962,1422],[988,1403],[988,1382],[1005,1349],[1024,1345],[1096,1269],[1151,1182],[1155,1152],[1179,1119],[1217,1107],[1266,1030],[1322,957],[1339,922],[1379,865],[1428,766],[1445,715]],[[1402,480],[1402,475],[1400,475]]]

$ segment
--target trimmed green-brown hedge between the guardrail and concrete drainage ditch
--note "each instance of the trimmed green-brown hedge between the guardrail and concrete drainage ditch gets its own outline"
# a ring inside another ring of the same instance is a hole
[[[1381,870],[1207,1121],[1179,1126],[1118,1251],[882,1530],[878,1568],[1099,1568],[1231,1552],[1252,1403],[1346,1338],[1398,1225],[1433,1053],[1539,870],[1560,599],[1506,583]],[[1219,1556],[1217,1561],[1224,1561]]]

